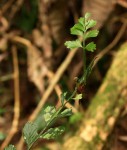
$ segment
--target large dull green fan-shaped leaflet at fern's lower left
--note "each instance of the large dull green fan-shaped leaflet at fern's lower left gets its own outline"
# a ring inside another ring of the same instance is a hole
[[[38,139],[37,126],[32,122],[26,123],[23,128],[23,137],[28,149],[30,149],[33,143]]]

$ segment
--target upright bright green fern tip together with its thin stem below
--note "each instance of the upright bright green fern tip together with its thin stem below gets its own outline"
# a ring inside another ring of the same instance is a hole
[[[71,29],[72,35],[77,35],[81,37],[81,40],[76,39],[74,41],[66,41],[65,46],[69,49],[73,48],[82,48],[84,54],[84,71],[83,76],[79,79],[79,82],[86,84],[87,77],[90,74],[90,70],[92,70],[91,64],[86,67],[86,51],[94,52],[96,50],[96,44],[94,42],[87,43],[87,39],[94,38],[98,36],[99,31],[95,29],[91,29],[96,25],[96,21],[90,19],[91,14],[86,13],[84,17],[78,19],[78,23],[76,23]],[[87,76],[86,76],[87,74]],[[83,80],[84,79],[84,80]]]

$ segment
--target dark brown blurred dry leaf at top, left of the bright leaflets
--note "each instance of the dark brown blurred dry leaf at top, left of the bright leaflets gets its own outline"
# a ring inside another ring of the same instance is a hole
[[[59,44],[65,38],[65,25],[68,18],[68,1],[60,0],[54,3],[48,11],[48,22],[54,40]]]

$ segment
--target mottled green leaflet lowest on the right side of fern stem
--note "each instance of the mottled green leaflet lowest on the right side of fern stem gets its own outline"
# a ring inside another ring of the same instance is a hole
[[[40,138],[47,139],[47,140],[56,139],[64,131],[65,131],[65,128],[63,126],[60,126],[60,127],[57,127],[57,128],[50,128],[43,135],[41,135]]]

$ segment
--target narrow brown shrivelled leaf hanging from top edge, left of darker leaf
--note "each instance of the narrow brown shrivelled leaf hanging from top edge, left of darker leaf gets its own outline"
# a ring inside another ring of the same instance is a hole
[[[47,9],[48,9],[49,1],[40,0],[39,1],[39,22],[40,22],[40,30],[34,31],[36,37],[38,36],[39,47],[43,50],[43,54],[45,58],[51,58],[52,56],[52,39],[51,39],[51,31],[48,26],[47,19]]]

